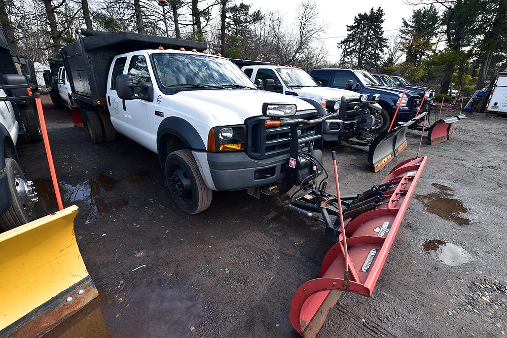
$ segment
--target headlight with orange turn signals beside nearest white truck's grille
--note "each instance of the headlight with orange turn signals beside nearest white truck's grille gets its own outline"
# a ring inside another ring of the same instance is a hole
[[[226,152],[243,150],[245,126],[214,127],[208,133],[208,152]]]

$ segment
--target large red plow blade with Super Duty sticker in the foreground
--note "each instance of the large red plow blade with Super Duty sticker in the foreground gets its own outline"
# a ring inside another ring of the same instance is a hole
[[[371,296],[426,162],[419,157],[395,166],[379,185],[390,188],[378,197],[377,208],[345,220],[347,250],[340,234],[324,256],[320,278],[301,285],[292,298],[289,317],[301,335],[318,333],[342,292]]]

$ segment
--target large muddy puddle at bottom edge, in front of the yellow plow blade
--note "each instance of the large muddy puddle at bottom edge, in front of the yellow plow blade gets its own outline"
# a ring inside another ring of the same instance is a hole
[[[204,320],[195,297],[162,279],[100,290],[99,296],[48,334],[49,337],[191,336]]]

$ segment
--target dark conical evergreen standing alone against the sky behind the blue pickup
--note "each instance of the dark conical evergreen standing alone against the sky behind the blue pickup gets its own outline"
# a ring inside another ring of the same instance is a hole
[[[347,25],[347,37],[338,43],[338,48],[342,49],[342,64],[368,69],[379,67],[387,46],[383,23],[384,10],[380,7],[355,16],[354,23]]]

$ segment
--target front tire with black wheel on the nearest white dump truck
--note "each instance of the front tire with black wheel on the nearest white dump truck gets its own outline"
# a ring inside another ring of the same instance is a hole
[[[172,152],[165,161],[165,179],[176,205],[190,215],[206,210],[213,192],[204,183],[189,149]]]

